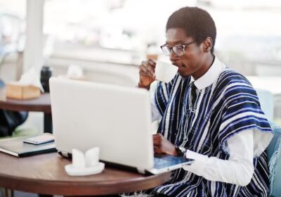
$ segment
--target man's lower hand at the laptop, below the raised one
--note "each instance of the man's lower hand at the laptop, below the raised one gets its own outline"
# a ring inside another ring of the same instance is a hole
[[[153,135],[153,148],[155,153],[178,155],[176,152],[176,146],[162,136],[162,134]]]

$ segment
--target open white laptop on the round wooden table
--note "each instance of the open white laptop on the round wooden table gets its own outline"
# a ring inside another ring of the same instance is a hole
[[[159,174],[192,161],[171,155],[154,157],[150,95],[145,89],[51,77],[55,148],[98,146],[100,160],[138,172]]]

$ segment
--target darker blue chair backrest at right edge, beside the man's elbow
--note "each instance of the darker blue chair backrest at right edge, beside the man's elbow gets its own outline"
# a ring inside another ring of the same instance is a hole
[[[270,123],[274,136],[266,151],[269,160],[270,196],[281,196],[281,127]]]

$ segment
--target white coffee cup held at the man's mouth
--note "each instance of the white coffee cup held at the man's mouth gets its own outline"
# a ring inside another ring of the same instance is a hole
[[[170,63],[157,61],[155,67],[155,78],[161,82],[169,83],[178,72],[178,67]]]

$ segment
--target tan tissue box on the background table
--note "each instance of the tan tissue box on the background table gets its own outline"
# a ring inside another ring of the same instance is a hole
[[[32,85],[22,85],[22,84],[6,84],[6,97],[13,99],[32,99],[38,98],[41,92],[39,87],[34,87]]]

